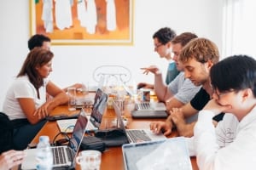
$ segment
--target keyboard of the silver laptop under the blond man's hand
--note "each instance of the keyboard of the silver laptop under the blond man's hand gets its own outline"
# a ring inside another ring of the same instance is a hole
[[[134,143],[143,142],[143,141],[151,141],[148,137],[148,134],[143,130],[127,130],[126,133],[131,138],[131,141]]]

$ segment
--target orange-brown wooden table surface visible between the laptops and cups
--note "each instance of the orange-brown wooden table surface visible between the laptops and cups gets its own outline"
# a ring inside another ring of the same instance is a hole
[[[52,111],[52,115],[58,115],[61,113],[67,113],[67,114],[74,114],[78,113],[79,111],[68,111],[67,105],[61,105],[55,108],[54,111]],[[128,119],[128,128],[148,128],[149,123],[153,121],[165,121],[165,119],[133,119],[131,117],[131,114],[129,111],[125,111],[125,116]],[[102,119],[101,128],[107,128],[108,123],[113,121],[115,117],[115,113],[113,109],[108,109]],[[48,135],[50,140],[53,140],[55,138],[55,135],[58,134],[59,128],[56,125],[56,122],[46,122],[44,127],[38,132],[37,136],[32,140],[32,143],[38,143],[39,136],[41,135]],[[177,137],[177,132],[173,132],[172,135],[170,135],[168,138]],[[59,135],[57,139],[62,139],[63,136]],[[194,170],[197,170],[198,167],[196,165],[196,159],[195,157],[191,157],[191,163]],[[77,166],[76,169],[80,169],[79,166]],[[122,156],[122,149],[121,147],[111,147],[108,148],[106,151],[102,153],[102,163],[101,163],[101,170],[122,170],[125,169],[124,167],[124,161]]]

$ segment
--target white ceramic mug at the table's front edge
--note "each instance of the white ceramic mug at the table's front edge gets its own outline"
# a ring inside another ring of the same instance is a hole
[[[76,157],[81,170],[100,170],[102,153],[98,150],[82,150]]]

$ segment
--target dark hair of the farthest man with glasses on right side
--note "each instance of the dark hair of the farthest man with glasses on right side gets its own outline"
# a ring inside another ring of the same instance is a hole
[[[153,35],[153,38],[157,38],[162,44],[171,42],[172,39],[176,37],[176,32],[169,27],[160,28],[159,31],[156,31]]]

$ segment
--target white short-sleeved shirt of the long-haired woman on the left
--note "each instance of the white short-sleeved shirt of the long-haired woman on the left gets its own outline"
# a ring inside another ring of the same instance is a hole
[[[3,102],[3,112],[9,116],[10,120],[26,118],[26,115],[20,107],[19,98],[34,99],[36,108],[46,102],[46,85],[49,80],[44,80],[44,86],[39,88],[40,99],[36,88],[29,82],[28,77],[17,77],[10,86]]]

